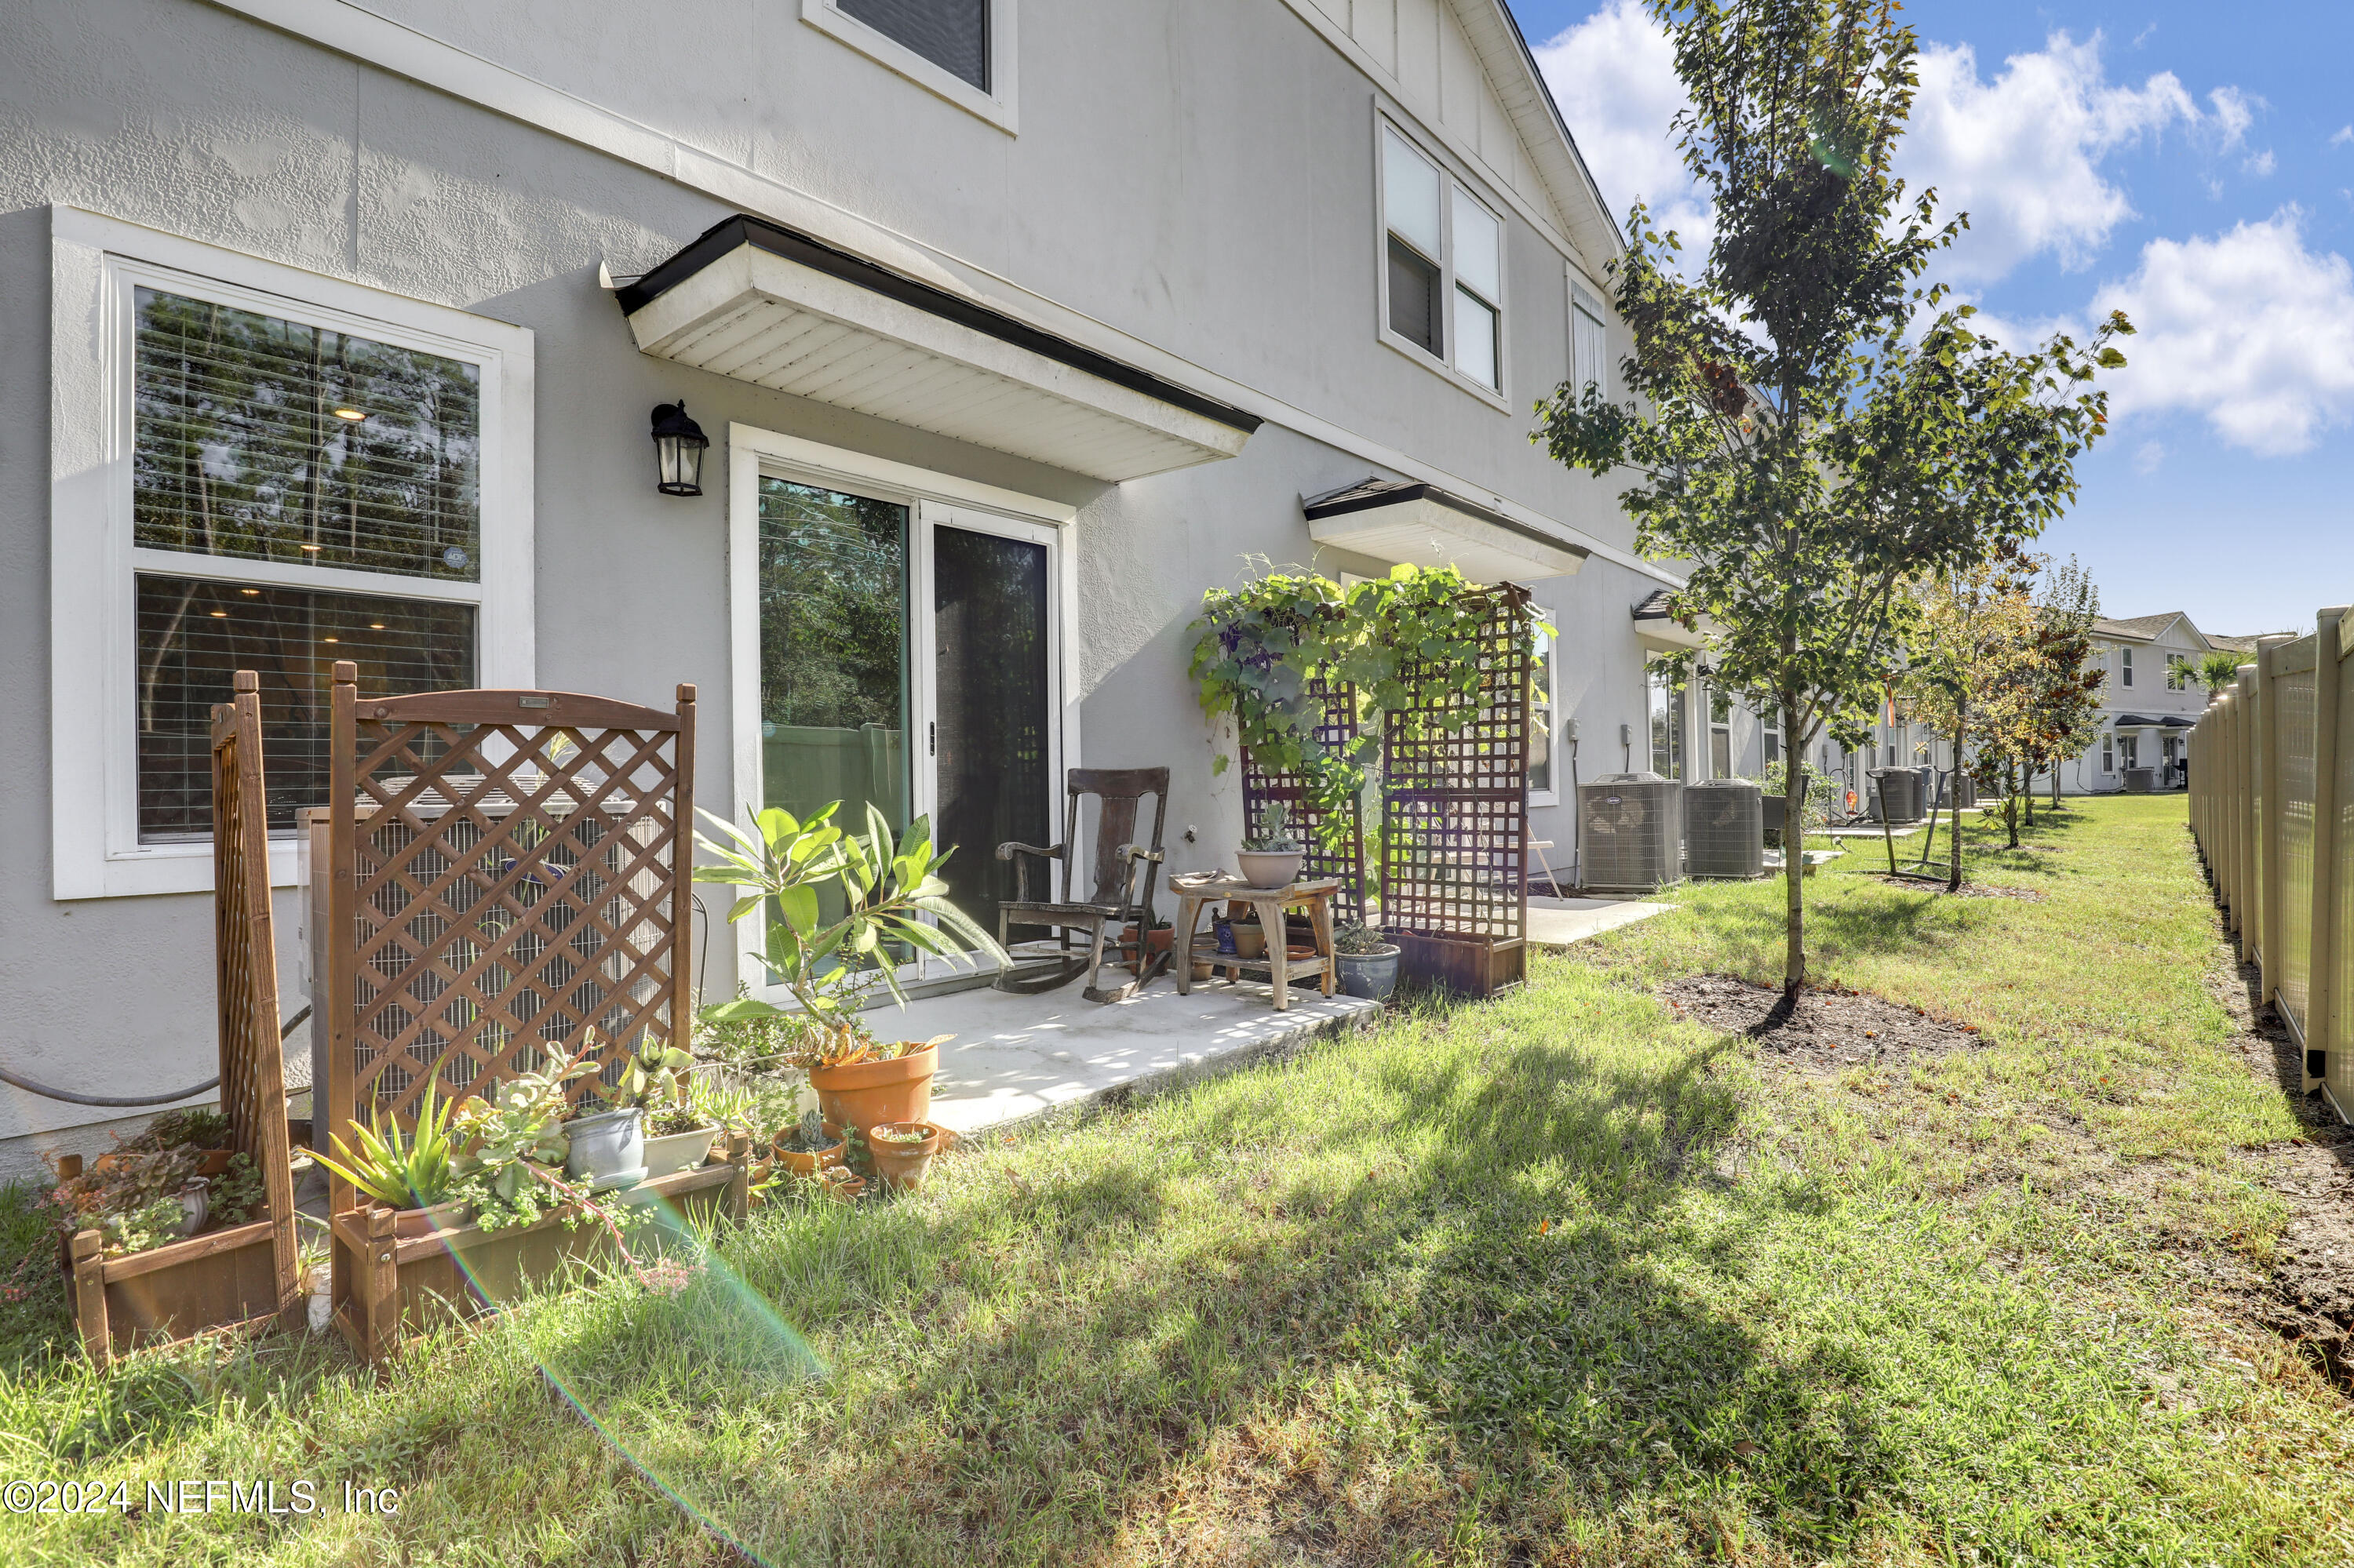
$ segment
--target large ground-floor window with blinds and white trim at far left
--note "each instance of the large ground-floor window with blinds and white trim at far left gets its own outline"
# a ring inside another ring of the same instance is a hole
[[[56,897],[212,883],[212,706],[261,678],[273,881],[367,692],[530,685],[530,332],[54,219]],[[94,330],[92,330],[94,325]]]

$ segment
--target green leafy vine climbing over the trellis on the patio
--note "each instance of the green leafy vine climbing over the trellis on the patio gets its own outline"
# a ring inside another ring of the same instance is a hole
[[[1351,584],[1271,572],[1241,589],[1210,589],[1193,633],[1191,676],[1208,716],[1231,713],[1236,739],[1259,765],[1297,772],[1316,836],[1337,850],[1346,808],[1382,749],[1379,716],[1398,713],[1405,739],[1459,732],[1481,711],[1488,605],[1455,567],[1398,565]],[[1530,619],[1528,636],[1537,622]],[[1356,690],[1356,732],[1342,746],[1316,737],[1325,718],[1316,680]],[[1212,772],[1226,772],[1219,753]]]

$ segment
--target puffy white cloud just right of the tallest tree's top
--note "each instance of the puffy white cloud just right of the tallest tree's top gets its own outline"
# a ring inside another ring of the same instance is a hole
[[[2222,89],[2213,101],[2246,129],[2241,94]],[[1968,45],[1928,45],[1897,160],[1907,181],[1937,186],[1940,212],[1970,214],[1947,271],[1984,283],[2041,252],[2072,268],[2090,264],[2109,231],[2133,217],[2100,160],[2199,120],[2199,104],[2170,71],[2140,87],[2112,85],[2097,33],[2081,45],[2053,33],[2043,49],[2006,59],[1994,80],[1980,80]],[[2225,122],[2225,134],[2239,132]]]

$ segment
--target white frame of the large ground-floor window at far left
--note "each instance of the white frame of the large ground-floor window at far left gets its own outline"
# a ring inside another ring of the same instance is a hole
[[[480,367],[473,584],[181,556],[132,544],[132,290],[151,285]],[[532,332],[75,207],[49,210],[49,833],[56,899],[210,892],[212,841],[139,843],[137,589],[181,577],[478,605],[476,680],[534,685]],[[271,838],[271,885],[294,883]]]

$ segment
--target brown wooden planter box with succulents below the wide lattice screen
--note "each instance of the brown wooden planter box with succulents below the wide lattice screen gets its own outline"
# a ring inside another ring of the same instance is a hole
[[[685,1217],[742,1220],[751,1196],[744,1165],[711,1163],[629,1189],[659,1196]],[[334,1326],[363,1361],[384,1358],[403,1330],[478,1316],[534,1285],[563,1278],[577,1260],[612,1260],[612,1236],[596,1220],[565,1224],[572,1210],[534,1224],[485,1231],[476,1224],[395,1241],[391,1210],[334,1215]],[[631,1236],[633,1253],[659,1253],[657,1231]]]

